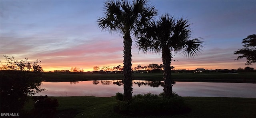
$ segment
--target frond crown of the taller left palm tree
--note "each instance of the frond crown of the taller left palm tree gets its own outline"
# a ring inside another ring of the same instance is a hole
[[[98,18],[99,28],[110,33],[134,33],[135,36],[140,32],[138,29],[144,28],[157,12],[154,6],[148,4],[148,0],[108,0],[104,11],[105,16]]]

